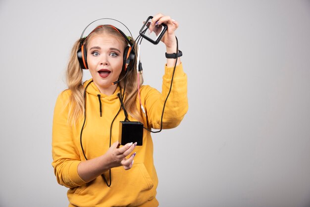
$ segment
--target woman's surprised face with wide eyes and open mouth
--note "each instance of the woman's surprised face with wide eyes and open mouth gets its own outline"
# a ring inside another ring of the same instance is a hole
[[[87,64],[95,85],[101,93],[112,95],[123,66],[124,45],[108,34],[93,36],[87,47]]]

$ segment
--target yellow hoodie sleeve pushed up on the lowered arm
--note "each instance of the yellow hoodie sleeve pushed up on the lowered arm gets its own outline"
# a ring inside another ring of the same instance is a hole
[[[56,101],[52,125],[52,166],[60,185],[74,188],[86,183],[78,175],[77,166],[81,162],[76,149],[71,126],[68,124],[69,91],[62,92]],[[74,126],[73,126],[74,127]]]

